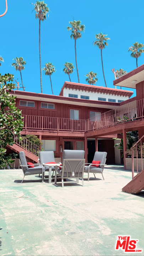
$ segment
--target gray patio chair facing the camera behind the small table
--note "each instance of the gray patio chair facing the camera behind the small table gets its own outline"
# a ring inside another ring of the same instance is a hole
[[[54,161],[54,151],[40,151],[39,152],[39,163],[46,164],[47,162],[55,162]],[[44,168],[43,169],[44,172],[49,171],[49,166],[44,166],[43,168]],[[54,175],[54,170],[55,170],[55,167],[52,166],[53,175]],[[49,176],[50,175],[51,174],[49,174]]]

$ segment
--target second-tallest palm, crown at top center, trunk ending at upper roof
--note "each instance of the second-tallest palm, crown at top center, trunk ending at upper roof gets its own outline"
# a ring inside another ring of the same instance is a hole
[[[74,39],[75,41],[75,63],[76,63],[76,71],[77,71],[77,74],[78,74],[78,81],[80,82],[79,80],[79,73],[78,73],[78,65],[77,65],[77,57],[76,57],[76,40],[78,38],[81,38],[81,32],[85,30],[85,25],[83,24],[80,24],[81,21],[78,20],[78,21],[69,21],[69,24],[71,25],[71,27],[67,27],[67,30],[71,30],[71,36],[70,38]]]

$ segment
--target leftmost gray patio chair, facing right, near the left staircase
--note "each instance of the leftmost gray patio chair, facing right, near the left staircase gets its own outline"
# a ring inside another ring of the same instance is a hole
[[[20,166],[22,167],[22,171],[24,174],[23,179],[25,178],[26,175],[43,174],[43,167],[40,164],[34,164],[34,167],[28,168],[28,166],[30,165],[27,164],[26,156],[23,151],[19,153],[19,156],[20,156]],[[42,175],[42,182],[43,182],[43,175]]]

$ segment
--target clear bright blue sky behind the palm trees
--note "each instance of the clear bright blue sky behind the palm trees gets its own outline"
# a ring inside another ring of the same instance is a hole
[[[20,72],[11,66],[13,58],[23,57],[27,64],[22,71],[23,84],[26,91],[41,92],[39,74],[39,21],[30,0],[7,0],[8,11],[0,18],[1,40],[0,55],[4,58],[0,73],[14,74],[20,80]],[[89,71],[98,74],[97,86],[105,86],[100,49],[94,46],[95,34],[105,33],[110,37],[109,46],[103,50],[103,65],[107,87],[114,88],[114,74],[111,69],[124,69],[127,72],[136,68],[136,60],[130,57],[129,46],[138,41],[144,43],[143,24],[144,2],[141,1],[138,11],[134,0],[119,1],[44,1],[49,9],[49,17],[41,22],[41,59],[42,68],[45,63],[52,62],[56,72],[52,75],[52,86],[55,95],[64,81],[69,81],[63,72],[63,64],[72,62],[75,66],[71,81],[78,82],[75,65],[74,40],[67,31],[69,21],[81,20],[85,32],[76,42],[77,62],[80,83],[86,84],[85,75]],[[33,1],[34,3],[34,1]],[[1,0],[1,14],[5,11],[5,0]],[[138,66],[144,64],[144,54],[138,59]],[[43,93],[52,94],[49,76],[42,71]],[[119,89],[119,87],[117,87]],[[125,89],[122,87],[122,89]],[[133,89],[126,89],[134,91]]]

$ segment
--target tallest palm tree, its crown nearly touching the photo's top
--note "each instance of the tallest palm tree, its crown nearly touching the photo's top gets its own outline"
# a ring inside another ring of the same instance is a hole
[[[41,21],[46,20],[46,15],[49,12],[47,4],[44,4],[44,1],[37,1],[34,5],[34,10],[36,11],[36,18],[39,19],[39,64],[40,64],[40,81],[41,81],[41,93],[42,89],[42,65],[41,65]]]

